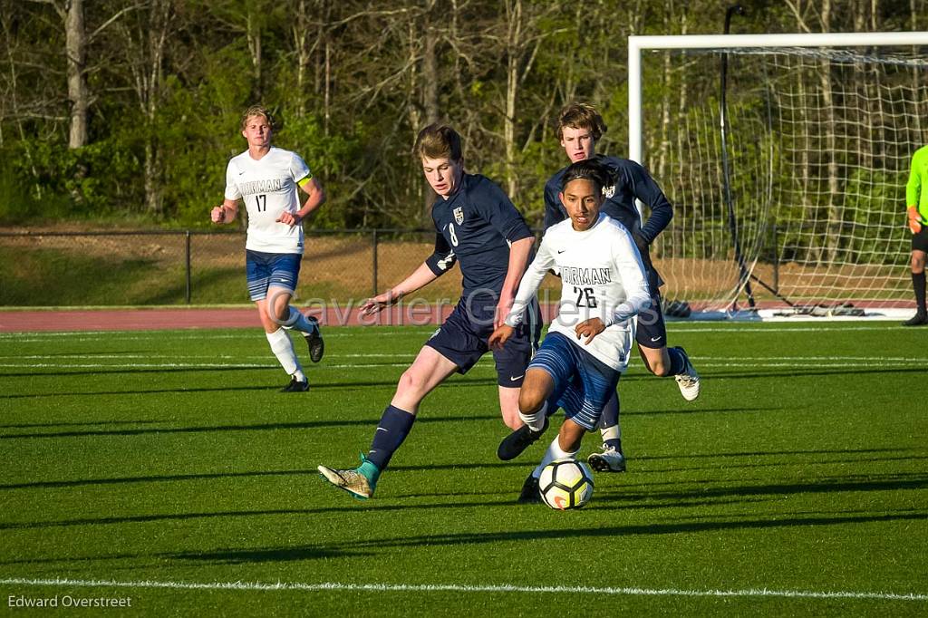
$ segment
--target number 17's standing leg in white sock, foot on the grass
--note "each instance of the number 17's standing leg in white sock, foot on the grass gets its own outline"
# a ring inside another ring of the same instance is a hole
[[[300,360],[293,350],[293,342],[287,330],[281,328],[273,318],[273,310],[268,311],[268,292],[271,289],[271,273],[275,255],[259,251],[245,251],[245,271],[248,278],[248,291],[251,301],[258,309],[258,317],[264,328],[264,336],[271,347],[271,352],[277,357],[280,367],[283,367],[290,376],[290,383],[282,391],[284,393],[301,393],[309,388],[309,381],[300,366]]]

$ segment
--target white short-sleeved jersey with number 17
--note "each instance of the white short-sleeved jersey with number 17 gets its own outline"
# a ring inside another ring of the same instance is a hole
[[[303,225],[277,223],[284,212],[300,210],[297,183],[311,178],[300,155],[271,148],[260,160],[248,150],[226,167],[226,200],[244,200],[248,209],[245,249],[265,253],[303,253]]]

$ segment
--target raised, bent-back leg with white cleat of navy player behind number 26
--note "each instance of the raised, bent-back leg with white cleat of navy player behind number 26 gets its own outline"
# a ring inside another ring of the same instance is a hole
[[[651,306],[638,315],[637,322],[635,341],[638,341],[638,354],[645,367],[655,376],[673,376],[680,394],[687,401],[699,397],[700,376],[690,362],[690,356],[683,348],[667,347],[667,327],[661,311],[660,292],[651,296]]]

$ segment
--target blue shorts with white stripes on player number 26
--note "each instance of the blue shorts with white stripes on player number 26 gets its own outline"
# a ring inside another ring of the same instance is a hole
[[[542,369],[554,380],[548,401],[556,401],[586,431],[596,429],[622,376],[560,332],[548,333],[528,367]]]

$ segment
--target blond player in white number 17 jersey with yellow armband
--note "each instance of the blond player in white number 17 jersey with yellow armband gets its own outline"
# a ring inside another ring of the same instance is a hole
[[[226,199],[210,213],[215,224],[235,220],[238,201],[248,211],[245,267],[251,300],[258,307],[264,334],[281,367],[290,375],[284,393],[301,393],[309,380],[287,333],[300,331],[309,345],[309,357],[317,363],[324,351],[315,317],[290,306],[303,257],[303,218],[326,200],[322,186],[295,152],[271,146],[271,114],[261,106],[246,109],[241,135],[248,149],[233,157],[226,167]],[[297,187],[307,198],[300,205]]]

